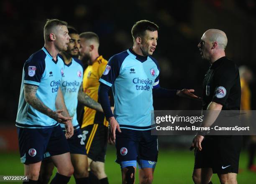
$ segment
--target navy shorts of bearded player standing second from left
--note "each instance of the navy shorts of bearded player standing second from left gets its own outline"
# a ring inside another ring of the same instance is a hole
[[[67,139],[70,149],[70,154],[86,154],[84,137],[80,129],[74,130],[74,135]]]

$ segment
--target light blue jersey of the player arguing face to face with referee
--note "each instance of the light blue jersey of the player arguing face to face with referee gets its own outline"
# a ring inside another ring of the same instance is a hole
[[[151,129],[152,89],[159,86],[159,66],[131,48],[110,58],[100,82],[112,86],[114,117],[120,128]]]

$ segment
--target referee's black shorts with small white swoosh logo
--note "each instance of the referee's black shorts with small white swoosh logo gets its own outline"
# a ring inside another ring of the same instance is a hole
[[[205,136],[202,151],[195,150],[194,169],[212,168],[213,173],[238,173],[242,136]]]

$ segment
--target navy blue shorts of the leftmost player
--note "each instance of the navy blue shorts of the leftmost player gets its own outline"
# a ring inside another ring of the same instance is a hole
[[[34,164],[44,158],[69,152],[61,126],[45,129],[19,128],[20,162]]]

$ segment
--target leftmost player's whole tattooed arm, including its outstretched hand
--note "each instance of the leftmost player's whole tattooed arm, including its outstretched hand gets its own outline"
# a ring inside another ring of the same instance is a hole
[[[28,84],[24,84],[24,95],[26,102],[31,105],[33,108],[38,110],[41,113],[53,118],[54,120],[66,123],[67,121],[71,120],[72,118],[68,118],[61,115],[61,110],[53,111],[49,107],[45,106],[44,103],[36,97],[36,91],[38,86],[32,86]]]

